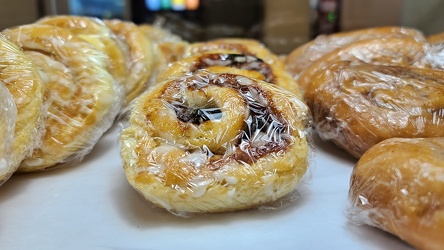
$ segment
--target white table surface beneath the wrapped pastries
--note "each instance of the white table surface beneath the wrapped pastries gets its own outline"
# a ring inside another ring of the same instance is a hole
[[[0,249],[411,249],[346,217],[356,160],[315,139],[310,183],[274,211],[177,217],[126,181],[119,126],[82,163],[14,175],[0,187]]]

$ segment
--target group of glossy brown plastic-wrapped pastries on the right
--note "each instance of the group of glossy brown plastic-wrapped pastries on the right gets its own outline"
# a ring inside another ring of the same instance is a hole
[[[320,137],[360,158],[350,217],[421,249],[444,247],[440,37],[371,28],[320,36],[285,58]]]

